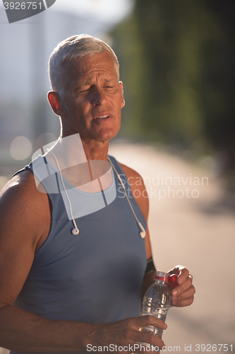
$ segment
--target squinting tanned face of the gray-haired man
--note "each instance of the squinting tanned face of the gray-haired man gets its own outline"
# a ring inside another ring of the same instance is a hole
[[[111,53],[104,51],[67,65],[71,80],[62,98],[64,134],[79,133],[81,139],[103,142],[112,139],[120,129],[124,101]]]

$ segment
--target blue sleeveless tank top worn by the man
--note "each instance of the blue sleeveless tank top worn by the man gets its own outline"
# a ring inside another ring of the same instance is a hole
[[[121,175],[136,216],[146,229],[123,169],[114,157],[109,158]],[[25,169],[32,171],[32,162]],[[37,157],[37,163],[44,164],[44,158]],[[15,306],[47,319],[93,324],[140,315],[146,268],[145,239],[139,236],[140,229],[114,171],[112,176],[116,198],[100,210],[76,217],[80,230],[76,236],[71,234],[73,223],[68,219],[61,193],[47,191],[52,202],[51,229],[35,253]],[[47,190],[46,179],[42,184]],[[57,182],[59,179],[56,173]],[[84,197],[84,192],[78,190],[78,198],[79,193]]]

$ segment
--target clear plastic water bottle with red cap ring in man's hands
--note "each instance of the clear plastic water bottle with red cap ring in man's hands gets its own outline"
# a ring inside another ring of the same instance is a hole
[[[155,278],[155,282],[150,285],[150,287],[145,292],[145,296],[143,298],[143,305],[141,315],[152,315],[157,317],[157,319],[162,319],[162,321],[166,321],[167,311],[170,307],[170,293],[168,286],[168,273],[157,272],[157,276]],[[162,338],[162,329],[158,329],[157,327],[147,326],[141,329],[141,331],[149,332],[155,334],[155,336]],[[159,353],[157,348],[150,346],[149,343],[142,343],[145,346],[151,347],[151,350],[155,350],[155,353]]]

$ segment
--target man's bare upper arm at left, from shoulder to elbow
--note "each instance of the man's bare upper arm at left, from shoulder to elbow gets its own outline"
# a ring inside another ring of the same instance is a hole
[[[21,171],[0,195],[0,307],[15,302],[49,228],[47,194],[30,170]]]

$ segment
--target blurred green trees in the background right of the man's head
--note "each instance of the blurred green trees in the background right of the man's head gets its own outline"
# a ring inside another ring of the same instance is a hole
[[[135,1],[112,33],[124,136],[200,149],[208,142],[235,166],[234,9],[231,0]]]

